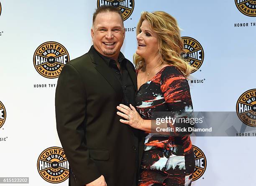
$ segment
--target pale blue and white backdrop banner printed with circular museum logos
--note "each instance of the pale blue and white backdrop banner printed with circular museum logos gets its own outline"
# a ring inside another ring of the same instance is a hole
[[[69,163],[56,131],[54,96],[63,66],[92,45],[92,14],[123,13],[132,61],[142,11],[162,10],[182,29],[194,110],[236,112],[233,137],[192,136],[195,186],[254,186],[256,0],[0,0],[0,185],[68,185]],[[9,178],[9,179],[3,179]]]

